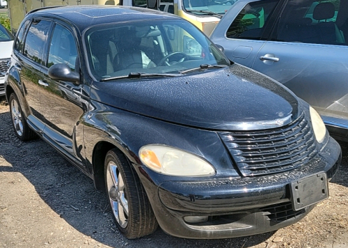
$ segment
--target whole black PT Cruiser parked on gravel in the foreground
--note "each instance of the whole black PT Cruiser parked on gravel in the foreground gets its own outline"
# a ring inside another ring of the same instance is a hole
[[[155,10],[33,10],[5,85],[17,137],[41,137],[106,189],[127,238],[288,226],[328,198],[340,164],[306,102]]]

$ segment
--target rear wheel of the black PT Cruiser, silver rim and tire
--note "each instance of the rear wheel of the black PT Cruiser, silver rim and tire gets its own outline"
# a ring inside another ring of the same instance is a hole
[[[31,130],[28,123],[26,123],[22,107],[20,106],[17,95],[15,95],[15,93],[12,93],[10,95],[8,105],[10,106],[10,116],[13,128],[18,139],[20,139],[21,141],[29,141],[31,139],[35,139],[36,134],[33,130]]]

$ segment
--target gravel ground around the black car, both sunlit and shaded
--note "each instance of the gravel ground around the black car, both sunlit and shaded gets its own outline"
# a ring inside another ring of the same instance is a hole
[[[8,106],[0,106],[0,247],[348,247],[348,144],[341,146],[329,200],[292,226],[225,240],[175,238],[158,228],[127,240],[104,192],[44,141],[19,141]]]

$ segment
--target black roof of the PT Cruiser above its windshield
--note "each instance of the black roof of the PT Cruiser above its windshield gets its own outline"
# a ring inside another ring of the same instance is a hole
[[[31,11],[34,17],[57,17],[74,23],[80,30],[97,24],[134,20],[181,19],[176,15],[148,8],[129,6],[59,6]]]

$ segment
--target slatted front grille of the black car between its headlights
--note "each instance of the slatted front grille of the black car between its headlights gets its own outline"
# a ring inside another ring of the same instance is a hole
[[[284,127],[255,132],[219,132],[243,176],[295,169],[317,154],[315,137],[302,114]]]

